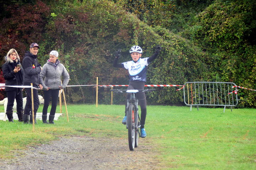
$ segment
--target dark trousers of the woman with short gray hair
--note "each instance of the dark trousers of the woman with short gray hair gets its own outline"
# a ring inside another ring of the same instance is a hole
[[[50,115],[55,115],[58,97],[59,97],[59,90],[60,89],[49,89],[44,90],[44,107],[43,107],[43,115],[47,114],[48,106],[50,103],[50,97],[52,97],[52,108],[50,110]]]

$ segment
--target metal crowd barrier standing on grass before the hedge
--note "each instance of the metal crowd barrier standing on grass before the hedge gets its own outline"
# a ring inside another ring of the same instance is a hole
[[[235,86],[233,88],[233,86]],[[226,106],[238,104],[237,87],[234,83],[224,82],[187,82],[184,84],[184,103],[190,106]]]

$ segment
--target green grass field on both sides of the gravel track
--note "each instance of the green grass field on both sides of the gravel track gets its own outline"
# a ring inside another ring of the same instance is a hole
[[[32,125],[1,120],[0,158],[63,135],[127,138],[121,124],[124,106],[68,105],[69,122],[65,107],[62,111],[55,125],[38,120],[35,132]],[[226,108],[223,113],[223,108],[148,106],[147,113],[147,137],[139,145],[154,146],[164,169],[256,169],[255,109]]]

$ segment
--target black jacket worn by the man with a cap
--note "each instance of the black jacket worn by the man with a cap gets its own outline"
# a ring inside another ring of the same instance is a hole
[[[33,65],[35,68],[33,68]],[[34,87],[37,87],[40,83],[39,74],[41,72],[41,65],[38,64],[37,56],[33,55],[31,52],[26,51],[23,61],[22,67],[24,70],[24,82],[23,85],[30,86],[33,83]]]

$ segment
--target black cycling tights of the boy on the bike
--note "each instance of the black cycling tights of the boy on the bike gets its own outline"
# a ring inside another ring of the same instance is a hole
[[[145,82],[143,81],[130,81],[129,86],[127,90],[144,90],[145,88]],[[139,100],[139,105],[140,105],[140,128],[144,128],[145,125],[145,120],[146,120],[146,96],[145,92],[138,92],[136,94],[137,99]],[[130,98],[130,95],[128,94],[126,97],[126,100]],[[126,107],[127,107],[127,102],[126,102]],[[125,114],[126,115],[126,114]]]

